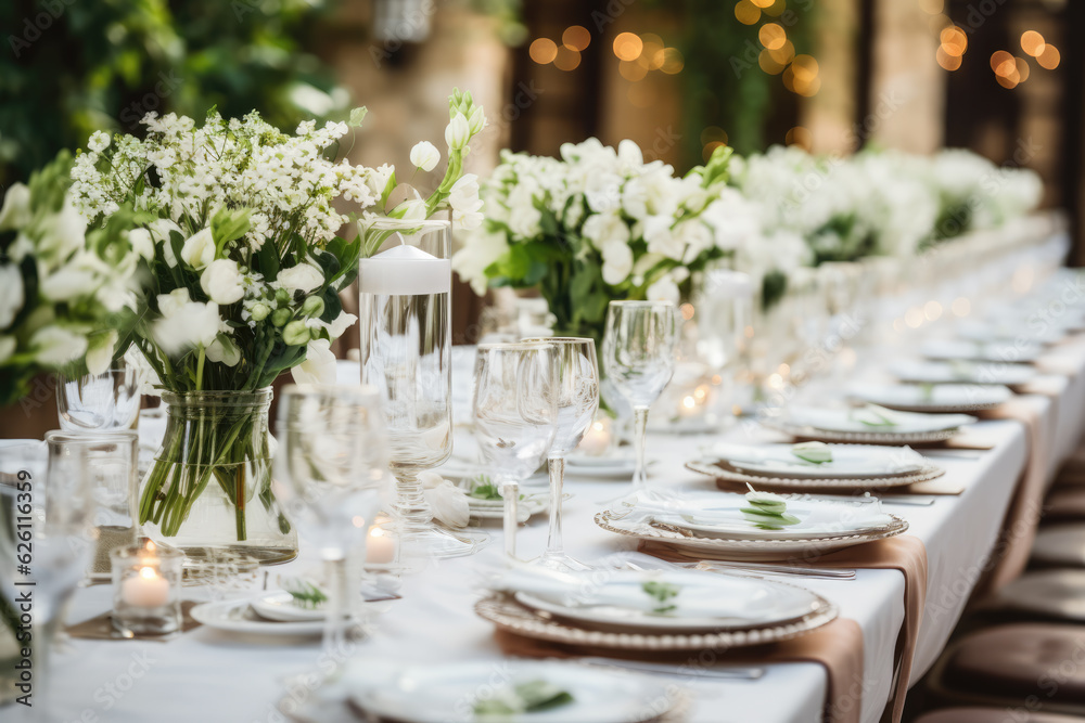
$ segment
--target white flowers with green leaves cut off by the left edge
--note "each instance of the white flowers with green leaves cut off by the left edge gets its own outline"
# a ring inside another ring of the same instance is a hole
[[[0,404],[41,371],[100,374],[113,361],[114,318],[136,306],[139,256],[130,208],[88,232],[62,153],[15,183],[0,208]]]

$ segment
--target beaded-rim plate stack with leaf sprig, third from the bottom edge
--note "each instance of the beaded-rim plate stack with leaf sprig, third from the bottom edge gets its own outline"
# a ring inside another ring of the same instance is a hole
[[[664,542],[705,558],[805,560],[837,550],[895,537],[908,522],[882,512],[877,501],[840,503],[789,500],[787,512],[799,524],[765,529],[749,522],[738,494],[681,500],[630,498],[596,515],[604,530],[642,541]]]

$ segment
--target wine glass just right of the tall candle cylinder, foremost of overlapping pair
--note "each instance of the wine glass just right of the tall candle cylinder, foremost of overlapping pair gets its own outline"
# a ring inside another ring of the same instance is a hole
[[[520,482],[546,460],[558,422],[554,347],[481,344],[474,423],[483,462],[505,498],[505,551],[516,553]]]

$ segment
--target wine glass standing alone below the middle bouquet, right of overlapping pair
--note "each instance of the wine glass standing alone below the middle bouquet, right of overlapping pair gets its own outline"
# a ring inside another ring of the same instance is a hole
[[[648,485],[644,444],[648,409],[671,382],[678,348],[677,309],[667,301],[611,301],[603,333],[603,371],[633,405],[637,469],[634,487]]]

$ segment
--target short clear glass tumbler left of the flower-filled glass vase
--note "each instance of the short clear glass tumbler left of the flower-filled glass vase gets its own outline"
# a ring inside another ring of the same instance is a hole
[[[56,413],[66,431],[131,429],[139,415],[140,374],[118,360],[102,374],[56,376]]]

